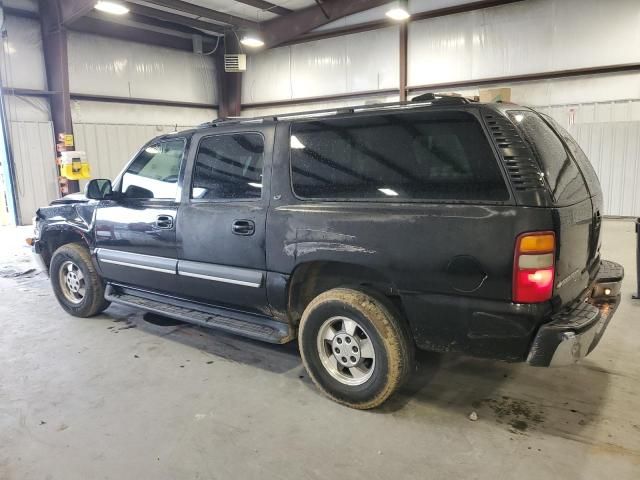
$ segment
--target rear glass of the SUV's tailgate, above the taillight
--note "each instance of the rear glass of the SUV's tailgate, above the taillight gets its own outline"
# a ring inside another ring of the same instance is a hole
[[[509,117],[537,154],[556,205],[573,205],[589,198],[580,170],[551,127],[531,111],[511,111]]]

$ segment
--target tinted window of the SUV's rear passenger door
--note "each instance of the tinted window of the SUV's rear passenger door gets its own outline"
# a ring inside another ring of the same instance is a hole
[[[263,157],[264,140],[258,133],[203,139],[196,156],[191,198],[260,198]]]

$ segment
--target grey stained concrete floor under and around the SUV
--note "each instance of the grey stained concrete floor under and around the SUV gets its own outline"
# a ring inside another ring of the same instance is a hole
[[[112,307],[58,307],[0,231],[0,479],[640,478],[634,225],[604,224],[624,300],[561,369],[420,354],[377,411],[341,407],[272,346]],[[26,272],[26,273],[25,273]],[[476,411],[478,421],[468,419]]]

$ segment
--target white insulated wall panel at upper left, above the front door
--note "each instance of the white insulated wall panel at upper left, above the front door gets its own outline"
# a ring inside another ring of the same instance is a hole
[[[69,32],[71,92],[216,103],[211,56]]]

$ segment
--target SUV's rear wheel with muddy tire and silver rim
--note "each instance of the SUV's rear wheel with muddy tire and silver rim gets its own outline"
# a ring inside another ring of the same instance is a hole
[[[361,410],[389,398],[413,364],[413,341],[393,304],[350,288],[324,292],[307,306],[298,344],[316,386],[334,401]]]

